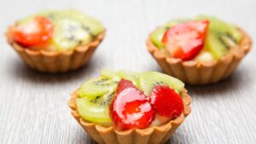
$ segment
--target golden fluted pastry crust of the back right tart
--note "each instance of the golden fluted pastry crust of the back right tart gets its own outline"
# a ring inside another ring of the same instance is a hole
[[[146,42],[148,51],[159,63],[162,69],[169,75],[182,80],[187,84],[212,84],[228,78],[241,62],[242,58],[252,48],[251,37],[246,32],[243,34],[239,48],[236,48],[218,61],[183,61],[164,55],[150,40]]]

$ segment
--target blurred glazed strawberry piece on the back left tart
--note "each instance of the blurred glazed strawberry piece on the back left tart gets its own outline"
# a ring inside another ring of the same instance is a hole
[[[54,26],[46,17],[37,16],[26,24],[15,28],[15,41],[24,46],[44,43],[52,36]]]

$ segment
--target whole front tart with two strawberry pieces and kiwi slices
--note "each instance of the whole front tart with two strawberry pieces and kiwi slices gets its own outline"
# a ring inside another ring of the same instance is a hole
[[[160,72],[102,70],[77,89],[73,117],[99,144],[165,143],[189,115],[191,98]]]

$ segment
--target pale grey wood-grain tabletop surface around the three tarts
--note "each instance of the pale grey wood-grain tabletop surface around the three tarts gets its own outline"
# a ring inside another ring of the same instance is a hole
[[[256,38],[254,0],[23,0],[0,1],[0,143],[94,144],[72,118],[67,100],[102,68],[160,71],[145,40],[167,20],[215,14]],[[15,20],[43,9],[81,9],[102,20],[108,32],[90,62],[76,72],[33,72],[3,36]],[[253,144],[256,141],[255,49],[233,76],[218,84],[187,86],[192,113],[167,143]]]

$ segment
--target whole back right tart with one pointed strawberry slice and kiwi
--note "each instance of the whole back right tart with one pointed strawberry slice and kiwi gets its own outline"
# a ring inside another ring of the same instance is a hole
[[[147,47],[167,74],[187,84],[212,84],[236,70],[252,41],[240,27],[198,15],[156,28]]]

